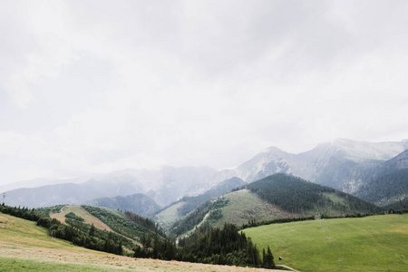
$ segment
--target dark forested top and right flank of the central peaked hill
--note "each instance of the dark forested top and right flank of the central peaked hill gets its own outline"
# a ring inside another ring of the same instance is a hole
[[[261,199],[289,212],[302,214],[327,206],[345,213],[379,211],[374,204],[342,191],[282,173],[252,182],[246,188]]]

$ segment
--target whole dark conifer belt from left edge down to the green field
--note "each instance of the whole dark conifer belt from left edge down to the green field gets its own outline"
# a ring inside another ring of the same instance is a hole
[[[49,235],[54,238],[62,238],[71,241],[73,245],[113,254],[128,255],[123,250],[125,246],[134,250],[133,257],[241,267],[275,267],[270,248],[267,252],[264,249],[261,257],[251,239],[247,238],[245,233],[239,233],[238,227],[232,224],[226,223],[222,229],[206,227],[205,231],[197,228],[188,238],[180,239],[182,247],[176,246],[176,243],[169,238],[160,237],[158,233],[154,238],[149,234],[143,234],[140,238],[141,246],[139,246],[116,233],[83,223],[83,219],[74,213],[66,217],[65,221],[69,225],[65,225],[35,209],[9,207],[3,203],[0,205],[0,212],[36,221],[37,226],[47,228]]]

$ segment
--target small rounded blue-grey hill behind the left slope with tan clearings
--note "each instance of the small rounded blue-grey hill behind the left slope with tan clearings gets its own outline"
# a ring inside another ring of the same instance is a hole
[[[117,196],[114,198],[92,199],[86,204],[108,209],[120,209],[123,211],[129,210],[144,217],[152,215],[160,210],[160,206],[145,194],[133,194],[129,196]]]

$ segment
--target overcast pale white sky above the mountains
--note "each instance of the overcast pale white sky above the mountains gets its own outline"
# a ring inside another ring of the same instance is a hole
[[[408,138],[408,1],[0,1],[0,184]]]

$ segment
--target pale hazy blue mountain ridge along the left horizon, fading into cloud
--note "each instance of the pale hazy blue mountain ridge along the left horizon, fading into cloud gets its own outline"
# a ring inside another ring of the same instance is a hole
[[[121,170],[86,182],[45,185],[5,192],[5,203],[29,208],[84,204],[92,199],[147,194],[160,206],[182,198],[195,184],[209,180],[217,170],[208,167],[161,167],[159,170]]]

